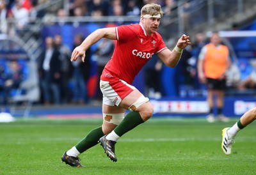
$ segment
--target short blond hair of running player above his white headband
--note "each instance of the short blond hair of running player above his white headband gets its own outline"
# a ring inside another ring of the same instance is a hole
[[[151,4],[145,4],[145,6],[143,6],[141,8],[141,17],[143,15],[158,15],[160,14],[161,17],[163,17],[163,11],[162,11],[162,8],[159,4],[154,4],[154,3],[151,3]]]

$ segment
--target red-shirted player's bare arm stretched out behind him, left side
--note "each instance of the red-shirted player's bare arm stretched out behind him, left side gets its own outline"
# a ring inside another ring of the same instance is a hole
[[[89,49],[94,43],[99,42],[101,38],[108,38],[109,40],[116,40],[115,27],[102,28],[97,29],[93,33],[91,33],[81,45],[76,47],[71,55],[71,61],[76,61],[79,57],[81,57],[84,62],[85,52]]]

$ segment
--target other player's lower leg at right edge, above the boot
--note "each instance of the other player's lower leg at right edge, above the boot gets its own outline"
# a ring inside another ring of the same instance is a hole
[[[243,114],[243,116],[233,125],[231,128],[227,130],[228,137],[234,138],[236,134],[243,129],[245,126],[249,125],[256,119],[256,107],[248,110]]]

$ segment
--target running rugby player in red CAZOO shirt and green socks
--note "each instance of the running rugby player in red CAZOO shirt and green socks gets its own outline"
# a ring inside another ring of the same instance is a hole
[[[153,106],[138,89],[132,86],[134,77],[153,54],[166,66],[175,67],[182,49],[191,44],[189,36],[183,34],[174,49],[170,50],[157,33],[163,11],[159,4],[146,4],[141,8],[140,24],[97,29],[81,45],[73,50],[71,61],[82,59],[85,52],[101,38],[117,40],[113,56],[100,76],[103,94],[103,123],[84,137],[76,146],[65,151],[61,160],[74,167],[82,167],[78,156],[98,142],[106,155],[116,162],[116,141],[136,126],[147,121],[153,114]],[[125,110],[131,110],[124,117]]]

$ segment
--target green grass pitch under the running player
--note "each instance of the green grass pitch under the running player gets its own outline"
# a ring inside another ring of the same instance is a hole
[[[236,120],[152,118],[118,141],[117,162],[98,144],[80,155],[83,168],[61,164],[61,155],[101,120],[0,123],[0,174],[255,174],[255,123],[237,134],[232,155],[221,150],[221,130]]]

